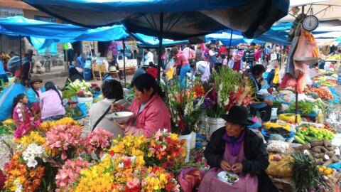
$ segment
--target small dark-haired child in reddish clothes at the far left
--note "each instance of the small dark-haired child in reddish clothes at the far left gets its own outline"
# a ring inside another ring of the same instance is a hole
[[[13,100],[13,113],[12,118],[16,122],[23,122],[26,119],[33,117],[32,112],[27,107],[28,98],[25,94],[21,93],[16,95]]]

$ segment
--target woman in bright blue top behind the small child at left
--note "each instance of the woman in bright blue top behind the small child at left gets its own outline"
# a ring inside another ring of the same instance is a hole
[[[45,92],[45,88],[41,87],[43,80],[38,76],[33,76],[30,80],[31,88],[26,91],[28,98],[28,107],[33,113],[40,112],[39,101],[41,93]]]

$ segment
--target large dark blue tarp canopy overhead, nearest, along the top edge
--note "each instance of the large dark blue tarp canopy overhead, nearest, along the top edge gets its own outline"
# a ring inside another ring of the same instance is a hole
[[[24,1],[63,21],[90,28],[124,23],[131,33],[159,36],[163,23],[163,37],[171,39],[203,36],[224,28],[253,38],[286,16],[289,7],[289,0]]]

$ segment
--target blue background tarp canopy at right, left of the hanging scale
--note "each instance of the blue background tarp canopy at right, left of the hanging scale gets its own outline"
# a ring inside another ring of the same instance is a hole
[[[269,30],[263,33],[261,36],[255,39],[244,38],[242,33],[238,31],[232,32],[231,46],[237,46],[239,43],[278,43],[281,45],[289,45],[290,42],[286,40],[286,33]],[[231,38],[231,30],[218,31],[217,33],[212,33],[205,36],[206,41],[219,40],[225,46],[229,46],[229,41]]]

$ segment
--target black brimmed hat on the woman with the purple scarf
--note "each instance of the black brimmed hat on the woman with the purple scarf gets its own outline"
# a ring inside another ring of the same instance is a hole
[[[233,105],[229,110],[228,114],[220,114],[220,117],[222,117],[222,119],[224,119],[227,122],[232,122],[235,124],[242,125],[254,124],[254,122],[247,119],[248,114],[249,112],[247,111],[247,108],[238,105]]]

